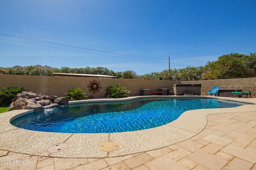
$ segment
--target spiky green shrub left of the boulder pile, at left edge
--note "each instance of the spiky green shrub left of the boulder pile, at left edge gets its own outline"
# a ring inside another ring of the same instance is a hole
[[[21,93],[26,88],[21,88],[20,86],[11,86],[6,85],[0,90],[0,105],[7,106],[12,103],[12,100],[15,98],[16,94]]]

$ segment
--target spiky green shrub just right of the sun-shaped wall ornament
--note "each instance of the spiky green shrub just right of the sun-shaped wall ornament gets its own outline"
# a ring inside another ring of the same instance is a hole
[[[110,98],[126,98],[128,97],[130,91],[126,90],[125,87],[120,86],[120,84],[108,86],[106,88],[106,96],[109,95]]]

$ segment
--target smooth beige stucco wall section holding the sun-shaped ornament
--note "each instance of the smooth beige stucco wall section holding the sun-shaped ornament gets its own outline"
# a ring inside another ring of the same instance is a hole
[[[87,87],[90,81],[97,80],[101,84],[100,92],[93,94]],[[140,89],[150,89],[158,91],[159,88],[168,88],[180,81],[170,80],[140,80],[140,79],[119,79],[119,78],[88,78],[88,77],[64,77],[64,76],[24,76],[24,75],[0,75],[0,88],[6,84],[19,85],[25,87],[26,91],[32,91],[36,94],[65,96],[67,90],[80,87],[88,98],[104,98],[106,87],[113,84],[120,84],[130,90],[130,96],[140,96]]]

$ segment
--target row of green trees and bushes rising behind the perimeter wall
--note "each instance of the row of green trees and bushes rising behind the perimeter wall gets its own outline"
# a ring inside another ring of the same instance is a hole
[[[61,67],[60,69],[43,69],[34,66],[26,68],[2,68],[8,70],[6,74],[18,75],[36,75],[52,76],[56,73],[73,73],[73,74],[101,74],[116,76],[117,78],[137,78],[137,79],[155,79],[155,80],[214,80],[227,78],[248,78],[256,77],[256,53],[249,55],[231,53],[218,57],[217,61],[208,61],[205,66],[187,66],[180,69],[166,69],[162,72],[151,72],[138,75],[132,70],[124,72],[114,72],[106,67],[86,67],[86,68],[69,68]]]

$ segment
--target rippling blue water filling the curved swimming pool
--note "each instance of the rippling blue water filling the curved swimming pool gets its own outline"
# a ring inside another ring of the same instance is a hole
[[[184,111],[237,107],[243,103],[217,99],[138,99],[120,103],[74,104],[19,117],[12,125],[33,131],[115,133],[165,125]]]

